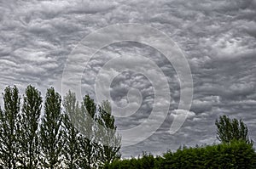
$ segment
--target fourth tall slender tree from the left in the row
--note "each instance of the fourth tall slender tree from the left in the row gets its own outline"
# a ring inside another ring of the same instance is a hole
[[[76,101],[75,93],[68,91],[63,101],[65,108],[64,116],[64,140],[63,155],[65,155],[65,164],[69,169],[79,168],[79,131],[75,127],[77,115],[79,115],[79,103]]]

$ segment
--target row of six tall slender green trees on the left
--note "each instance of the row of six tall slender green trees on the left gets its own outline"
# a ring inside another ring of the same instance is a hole
[[[115,131],[108,101],[96,104],[85,95],[79,103],[71,92],[62,100],[50,87],[43,103],[35,87],[26,87],[22,98],[17,87],[6,87],[0,107],[0,168],[98,168],[120,158],[121,138]]]

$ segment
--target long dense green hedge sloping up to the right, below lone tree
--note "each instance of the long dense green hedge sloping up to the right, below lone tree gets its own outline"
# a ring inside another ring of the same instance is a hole
[[[141,158],[113,161],[106,169],[130,168],[256,168],[256,154],[252,144],[233,141],[230,144],[208,145],[206,147],[177,149],[175,153],[166,152],[163,157],[143,154]]]

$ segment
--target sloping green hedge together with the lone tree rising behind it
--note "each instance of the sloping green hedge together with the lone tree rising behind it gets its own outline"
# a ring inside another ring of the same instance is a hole
[[[177,149],[167,151],[162,156],[143,153],[142,157],[130,160],[116,160],[106,164],[105,169],[255,169],[256,153],[253,140],[247,135],[247,126],[243,121],[230,119],[222,115],[215,121],[217,138],[221,144],[205,147]]]

